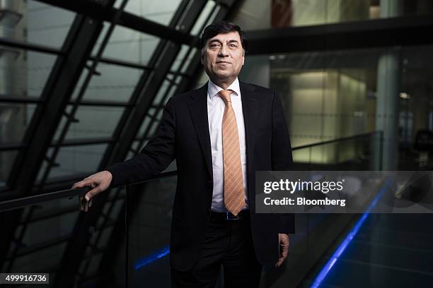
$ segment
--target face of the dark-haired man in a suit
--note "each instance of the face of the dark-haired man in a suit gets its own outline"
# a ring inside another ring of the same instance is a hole
[[[236,31],[212,37],[203,48],[204,70],[215,84],[233,82],[241,72],[244,61],[241,37]]]

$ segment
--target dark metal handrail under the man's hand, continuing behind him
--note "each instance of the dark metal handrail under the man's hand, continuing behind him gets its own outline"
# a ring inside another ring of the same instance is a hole
[[[376,133],[381,133],[381,131],[374,131],[371,133],[362,133],[362,134],[358,134],[358,135],[354,135],[354,136],[350,136],[350,137],[337,138],[337,139],[323,141],[323,142],[319,142],[319,143],[302,145],[299,147],[292,148],[291,150],[299,150],[299,149],[304,149],[304,148],[311,148],[311,147],[318,146],[318,145],[325,145],[325,144],[329,144],[329,143],[336,143],[336,142],[350,140],[350,139],[357,139],[357,138],[362,138],[362,137],[366,137],[366,136],[371,136],[371,135],[376,134]],[[174,176],[177,174],[178,174],[177,170],[171,171],[171,172],[163,172],[161,174],[153,176],[153,177],[146,179],[144,181],[134,182],[131,184],[126,184],[126,185],[142,184],[142,183],[146,183],[149,181],[154,181],[156,179],[163,179],[163,178],[166,178],[169,176]],[[126,186],[126,185],[123,185],[123,186]],[[120,187],[122,187],[122,186],[120,186]],[[57,199],[62,199],[62,198],[74,198],[76,196],[83,195],[84,193],[87,193],[90,190],[91,190],[91,188],[88,188],[88,187],[77,188],[77,189],[66,189],[66,190],[54,191],[54,192],[50,192],[50,193],[43,193],[43,194],[39,194],[39,195],[35,195],[35,196],[28,196],[28,197],[23,197],[23,198],[16,198],[16,199],[12,199],[12,200],[1,201],[0,202],[0,212],[15,210],[18,208],[24,208],[24,207],[30,206],[30,205],[37,205],[37,204],[43,203],[45,201],[50,201],[50,200],[57,200]]]

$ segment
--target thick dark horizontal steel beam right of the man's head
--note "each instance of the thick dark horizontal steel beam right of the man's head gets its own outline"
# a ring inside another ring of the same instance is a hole
[[[247,32],[248,54],[427,45],[432,30],[431,15],[254,30]]]

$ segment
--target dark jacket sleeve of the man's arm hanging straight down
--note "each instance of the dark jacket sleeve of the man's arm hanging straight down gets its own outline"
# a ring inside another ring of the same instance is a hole
[[[292,169],[291,145],[289,131],[281,100],[276,92],[272,103],[272,170],[289,171]],[[295,215],[279,214],[279,233],[292,234],[295,232]]]

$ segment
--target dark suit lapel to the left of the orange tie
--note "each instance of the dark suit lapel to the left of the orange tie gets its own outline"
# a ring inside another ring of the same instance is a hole
[[[212,150],[210,145],[209,121],[207,119],[207,83],[190,95],[189,107],[206,167],[212,179]]]

